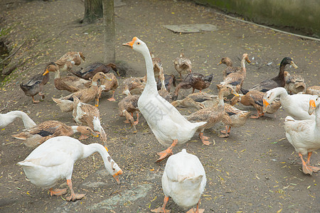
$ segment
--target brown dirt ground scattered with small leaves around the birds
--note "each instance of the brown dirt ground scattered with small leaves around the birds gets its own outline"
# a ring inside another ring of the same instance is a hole
[[[215,84],[222,80],[225,65],[217,65],[229,57],[240,66],[242,53],[248,53],[252,63],[247,65],[244,88],[277,75],[279,62],[290,56],[299,68],[286,67],[289,72],[302,75],[307,86],[319,84],[319,42],[225,18],[214,9],[189,1],[124,0],[115,7],[116,57],[134,67],[127,77],[145,75],[144,59],[139,53],[122,47],[122,43],[137,36],[149,50],[161,58],[165,73],[177,75],[174,58],[181,49],[193,63],[193,72],[213,73],[213,82],[204,91],[217,94]],[[84,3],[79,0],[57,1],[1,1],[1,28],[9,29],[2,38],[9,41],[13,50],[26,40],[13,60],[22,61],[1,88],[0,112],[21,110],[40,123],[55,119],[75,125],[72,112],[62,113],[51,97],[61,97],[68,92],[55,89],[53,75],[45,86],[44,102],[33,104],[19,84],[43,72],[46,63],[55,61],[68,51],[82,51],[87,60],[103,60],[102,23],[81,25]],[[164,25],[182,23],[211,23],[218,31],[202,33],[173,33]],[[79,67],[75,67],[76,70]],[[123,78],[119,78],[119,82]],[[191,93],[181,92],[178,99]],[[116,91],[117,102],[123,98]],[[94,154],[79,160],[73,170],[75,192],[86,193],[77,202],[66,202],[65,196],[50,197],[26,180],[16,163],[31,153],[31,148],[11,137],[23,129],[21,121],[0,130],[0,211],[1,212],[150,212],[161,206],[164,192],[161,175],[166,160],[154,163],[156,152],[164,146],[156,141],[144,119],[133,134],[124,117],[118,115],[117,102],[108,102],[110,94],[100,100],[102,126],[108,134],[109,153],[124,171],[121,185],[116,185],[107,174],[102,158]],[[36,97],[38,99],[38,97]],[[239,109],[252,111],[253,107],[238,104]],[[189,114],[189,109],[179,109]],[[206,170],[207,185],[201,197],[201,207],[206,212],[319,212],[320,175],[304,175],[302,164],[284,132],[287,114],[280,109],[260,119],[249,119],[245,126],[232,129],[229,138],[219,138],[223,124],[205,131],[210,146],[203,146],[195,135],[188,143],[174,148],[174,153],[186,148],[197,155]],[[78,135],[75,136],[76,138]],[[101,143],[98,138],[88,138],[83,143]],[[311,163],[320,165],[320,156],[314,153]],[[57,187],[66,187],[61,180]],[[172,200],[167,209],[183,212]]]

